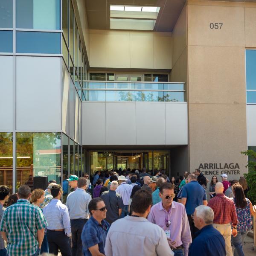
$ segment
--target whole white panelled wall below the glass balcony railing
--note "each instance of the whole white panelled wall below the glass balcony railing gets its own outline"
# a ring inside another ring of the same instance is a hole
[[[83,145],[187,145],[187,104],[82,102]]]

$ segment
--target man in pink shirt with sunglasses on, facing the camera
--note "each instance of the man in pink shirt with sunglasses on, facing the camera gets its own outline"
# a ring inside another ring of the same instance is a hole
[[[175,193],[171,183],[163,183],[160,186],[159,196],[162,201],[151,208],[148,221],[165,231],[175,256],[187,256],[192,239],[186,209],[183,204],[173,201]]]

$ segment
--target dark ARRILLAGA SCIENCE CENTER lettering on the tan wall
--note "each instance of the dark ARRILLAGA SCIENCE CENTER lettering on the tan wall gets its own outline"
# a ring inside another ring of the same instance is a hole
[[[203,175],[240,175],[240,167],[238,163],[200,163],[198,169]]]

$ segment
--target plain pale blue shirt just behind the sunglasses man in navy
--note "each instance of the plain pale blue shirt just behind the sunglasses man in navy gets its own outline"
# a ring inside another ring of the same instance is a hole
[[[92,197],[84,189],[77,188],[67,196],[67,209],[70,219],[89,218],[88,204]]]

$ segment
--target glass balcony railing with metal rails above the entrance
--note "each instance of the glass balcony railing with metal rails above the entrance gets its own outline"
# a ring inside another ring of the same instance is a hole
[[[184,102],[184,83],[84,81],[82,100],[93,102]]]

